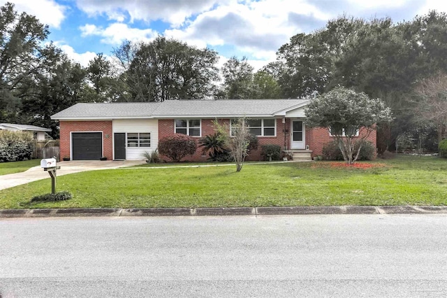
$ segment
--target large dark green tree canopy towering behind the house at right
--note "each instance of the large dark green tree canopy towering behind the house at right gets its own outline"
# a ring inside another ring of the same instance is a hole
[[[309,34],[297,34],[265,67],[285,97],[307,97],[337,86],[379,97],[393,110],[384,146],[418,125],[413,97],[426,78],[447,67],[447,15],[430,11],[407,22],[342,15]],[[384,127],[384,126],[383,126]]]

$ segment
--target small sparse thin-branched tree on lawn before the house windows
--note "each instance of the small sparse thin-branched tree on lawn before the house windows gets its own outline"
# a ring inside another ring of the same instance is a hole
[[[214,121],[214,128],[219,138],[231,152],[236,163],[236,171],[240,172],[244,165],[244,160],[249,155],[249,145],[251,134],[247,125],[247,118],[237,118],[231,121],[231,127],[221,125],[217,120]],[[257,144],[257,143],[256,143]]]

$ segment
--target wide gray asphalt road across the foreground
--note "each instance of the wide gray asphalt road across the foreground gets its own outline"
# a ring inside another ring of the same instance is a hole
[[[0,219],[0,296],[446,297],[446,215]]]

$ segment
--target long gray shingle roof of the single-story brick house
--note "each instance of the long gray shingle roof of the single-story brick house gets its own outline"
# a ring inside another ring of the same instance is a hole
[[[309,99],[168,100],[146,103],[75,104],[53,120],[125,118],[272,117],[305,106]]]

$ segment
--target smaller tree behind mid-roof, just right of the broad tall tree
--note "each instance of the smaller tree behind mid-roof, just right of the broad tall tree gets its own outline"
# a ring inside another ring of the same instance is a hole
[[[247,99],[254,93],[254,68],[246,57],[231,57],[222,66],[223,90],[227,99]]]

